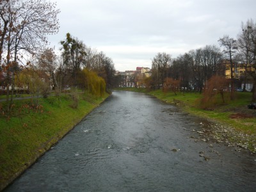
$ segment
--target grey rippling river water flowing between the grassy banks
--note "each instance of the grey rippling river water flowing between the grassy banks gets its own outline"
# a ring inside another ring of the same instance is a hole
[[[201,141],[200,121],[113,92],[5,191],[255,191],[256,157]]]

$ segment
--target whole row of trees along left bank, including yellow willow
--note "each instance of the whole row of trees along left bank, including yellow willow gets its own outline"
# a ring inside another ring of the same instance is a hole
[[[35,98],[70,87],[102,95],[113,84],[114,63],[67,33],[60,54],[49,48],[48,35],[58,33],[56,3],[45,0],[0,1],[0,86],[6,111],[19,91]]]

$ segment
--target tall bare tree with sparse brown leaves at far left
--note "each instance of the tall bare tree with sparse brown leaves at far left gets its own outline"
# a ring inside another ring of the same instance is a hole
[[[40,48],[47,44],[47,35],[58,32],[57,15],[60,10],[56,10],[56,3],[45,0],[3,0],[1,5],[3,33],[1,32],[0,62],[6,73],[6,102],[10,112],[15,72],[19,70],[18,61],[26,52],[35,54],[40,51]],[[3,60],[4,54],[6,59]]]

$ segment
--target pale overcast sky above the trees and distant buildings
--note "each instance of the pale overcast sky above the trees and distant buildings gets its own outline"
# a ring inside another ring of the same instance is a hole
[[[60,31],[102,51],[116,70],[150,67],[157,52],[176,58],[191,49],[236,38],[241,22],[256,21],[255,0],[51,0],[56,1]]]

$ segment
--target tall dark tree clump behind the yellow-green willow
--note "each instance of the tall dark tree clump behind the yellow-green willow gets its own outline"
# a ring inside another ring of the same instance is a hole
[[[54,86],[63,89],[65,86],[74,86],[77,88],[88,88],[84,85],[84,79],[90,79],[93,72],[97,77],[104,80],[104,87],[110,88],[113,85],[115,76],[115,66],[113,60],[106,56],[104,52],[98,52],[90,46],[85,45],[81,40],[74,38],[67,33],[66,39],[61,40],[61,55],[59,65],[54,68],[59,83]],[[94,76],[94,75],[93,75]],[[51,78],[52,82],[56,79]],[[96,81],[96,80],[95,80]],[[56,81],[55,81],[56,82]]]

